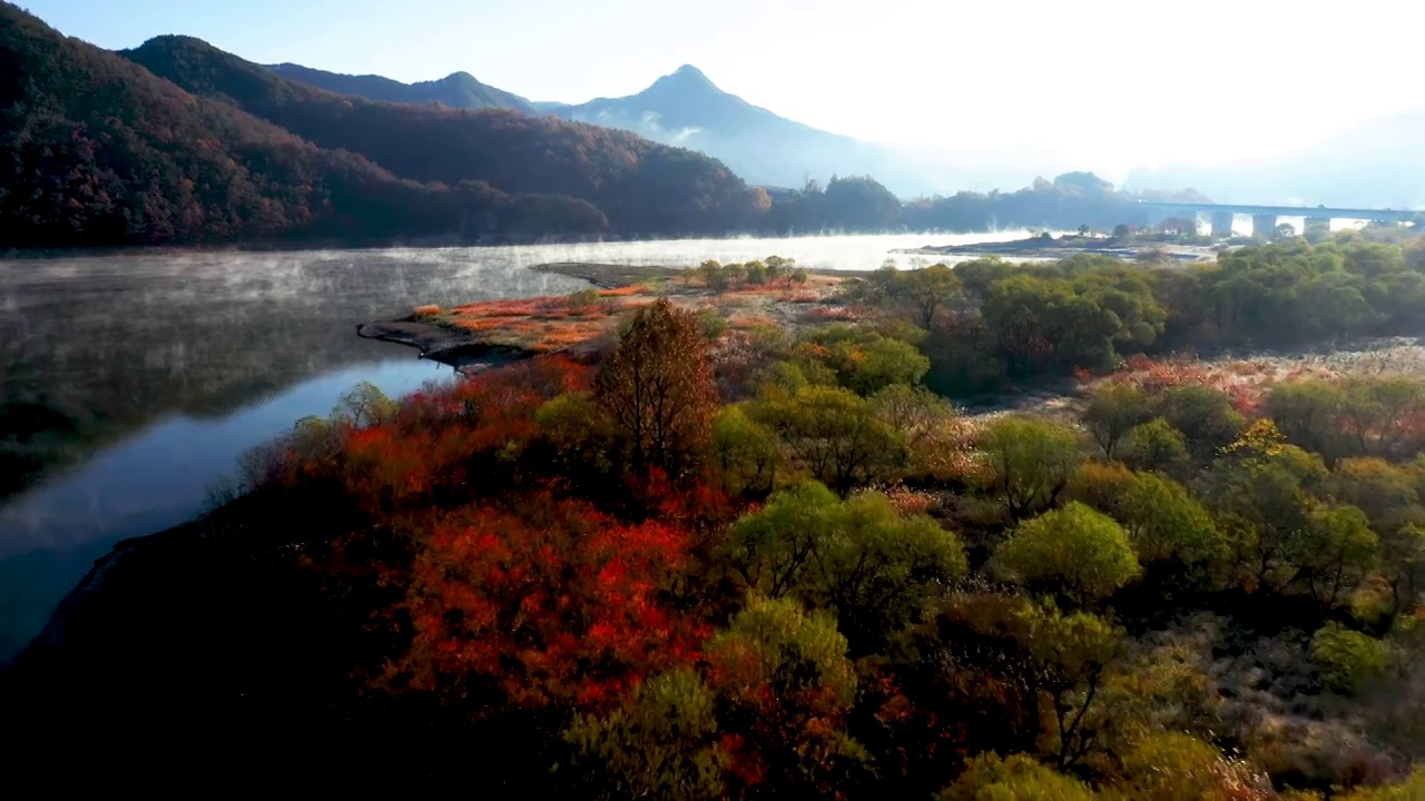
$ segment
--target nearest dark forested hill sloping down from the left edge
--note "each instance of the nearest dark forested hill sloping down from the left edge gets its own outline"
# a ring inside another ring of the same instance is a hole
[[[428,235],[509,198],[400,181],[0,3],[0,248]]]

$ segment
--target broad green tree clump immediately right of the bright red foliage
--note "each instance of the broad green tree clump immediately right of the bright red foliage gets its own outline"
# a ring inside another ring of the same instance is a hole
[[[915,623],[966,572],[959,539],[935,520],[902,515],[881,493],[839,500],[809,482],[740,520],[732,543],[748,583],[834,610],[862,654]]]

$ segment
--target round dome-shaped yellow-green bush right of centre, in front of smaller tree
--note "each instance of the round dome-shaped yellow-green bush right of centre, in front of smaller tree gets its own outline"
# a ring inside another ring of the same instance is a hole
[[[995,572],[1084,606],[1113,594],[1143,569],[1123,526],[1070,502],[1016,526],[995,552]]]

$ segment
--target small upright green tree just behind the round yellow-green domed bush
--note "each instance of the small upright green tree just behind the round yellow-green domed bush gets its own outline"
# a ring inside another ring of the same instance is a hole
[[[1080,460],[1073,429],[1020,415],[986,425],[980,450],[988,489],[1016,520],[1053,506]]]

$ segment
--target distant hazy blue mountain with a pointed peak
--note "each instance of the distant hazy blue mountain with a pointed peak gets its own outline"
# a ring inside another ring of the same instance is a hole
[[[874,175],[909,197],[943,188],[891,148],[794,123],[720,90],[697,67],[683,66],[628,97],[579,105],[536,104],[564,120],[634,131],[721,160],[750,184],[802,187],[808,178]]]

